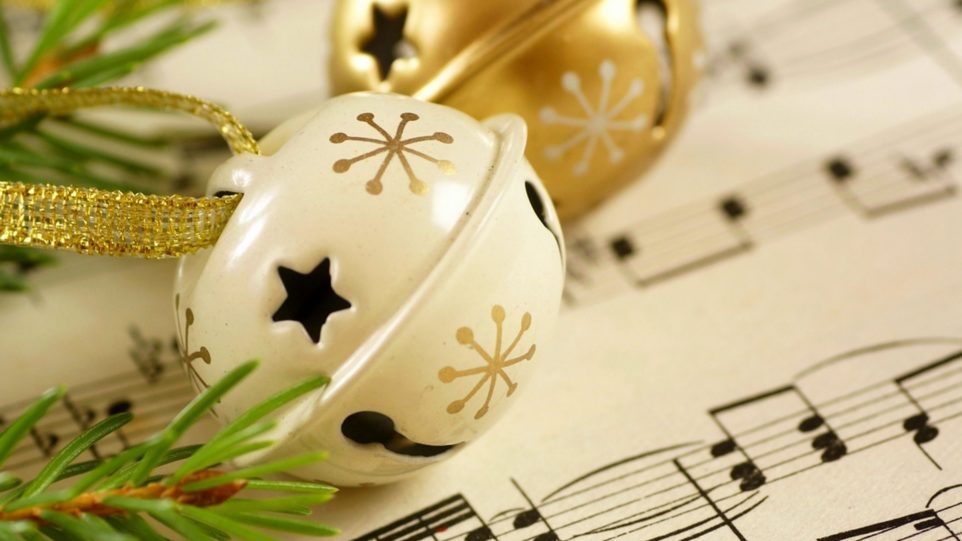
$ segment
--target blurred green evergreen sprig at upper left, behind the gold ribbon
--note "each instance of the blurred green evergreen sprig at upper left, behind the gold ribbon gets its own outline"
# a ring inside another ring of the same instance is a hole
[[[174,13],[187,0],[57,0],[44,13],[33,44],[18,51],[8,31],[4,2],[0,0],[0,80],[16,87],[104,85],[214,26],[195,21],[187,11]],[[177,16],[130,45],[110,51],[101,47],[105,39],[137,23],[172,14]],[[0,179],[156,191],[158,184],[174,184],[175,175],[147,157],[170,144],[164,138],[73,116],[39,116],[0,128]],[[54,262],[32,249],[0,249],[0,292],[28,289],[29,271]]]

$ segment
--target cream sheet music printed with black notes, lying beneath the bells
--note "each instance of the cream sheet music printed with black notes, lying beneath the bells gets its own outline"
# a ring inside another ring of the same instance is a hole
[[[566,232],[538,377],[449,461],[343,490],[319,517],[344,539],[962,538],[962,10],[703,16],[680,139]],[[171,269],[71,258],[0,298],[23,374],[0,378],[0,415],[77,383],[24,467],[107,411],[137,413],[136,438],[188,399]]]

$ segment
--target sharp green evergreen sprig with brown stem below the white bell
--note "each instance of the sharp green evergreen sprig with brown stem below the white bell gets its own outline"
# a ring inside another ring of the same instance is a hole
[[[323,376],[295,385],[254,406],[203,445],[175,447],[213,405],[257,367],[249,362],[200,393],[164,430],[111,458],[77,463],[98,441],[121,429],[130,413],[108,417],[52,456],[29,481],[4,471],[4,461],[65,394],[43,393],[0,433],[0,541],[164,540],[162,528],[191,541],[270,541],[268,531],[329,536],[337,530],[298,515],[329,500],[321,483],[268,480],[323,460],[325,453],[223,471],[220,465],[262,450],[279,408],[327,384]],[[159,472],[164,473],[159,473]],[[241,498],[253,492],[255,498]]]

